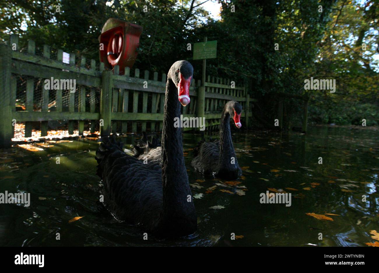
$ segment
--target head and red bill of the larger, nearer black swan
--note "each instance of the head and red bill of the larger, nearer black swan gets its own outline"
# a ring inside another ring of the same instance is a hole
[[[189,86],[193,78],[193,67],[188,61],[175,62],[169,71],[169,77],[178,88],[178,99],[183,106],[189,104]]]

